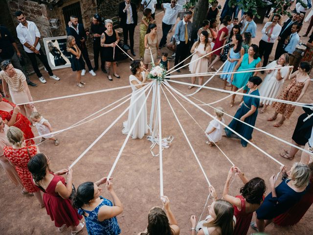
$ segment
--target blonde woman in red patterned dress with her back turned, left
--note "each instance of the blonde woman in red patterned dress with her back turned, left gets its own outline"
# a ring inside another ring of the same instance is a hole
[[[31,174],[27,168],[27,163],[31,157],[37,154],[36,145],[25,145],[23,132],[15,126],[11,126],[8,129],[6,137],[12,146],[3,148],[4,156],[15,166],[23,187],[27,192],[34,193],[34,196],[40,203],[40,207],[43,208],[45,206],[43,197],[40,190],[32,183]]]

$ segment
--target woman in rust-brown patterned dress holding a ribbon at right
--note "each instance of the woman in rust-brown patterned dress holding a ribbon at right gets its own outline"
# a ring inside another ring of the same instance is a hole
[[[299,102],[310,86],[311,80],[308,75],[310,69],[310,64],[308,62],[301,62],[298,71],[291,74],[291,83],[289,83],[289,85],[277,96],[277,99]],[[295,108],[292,104],[276,101],[272,106],[275,108],[275,113],[273,117],[268,118],[268,121],[276,120],[278,114],[282,115],[282,118],[279,122],[274,124],[274,127],[280,127],[286,119],[289,119]]]

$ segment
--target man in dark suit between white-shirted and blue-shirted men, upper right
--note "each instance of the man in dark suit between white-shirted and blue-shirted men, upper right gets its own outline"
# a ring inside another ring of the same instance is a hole
[[[299,13],[294,13],[291,19],[285,21],[284,25],[282,26],[282,30],[277,38],[278,44],[275,51],[275,60],[277,60],[284,52],[285,40],[291,34],[291,27],[293,24],[297,24],[299,19]]]

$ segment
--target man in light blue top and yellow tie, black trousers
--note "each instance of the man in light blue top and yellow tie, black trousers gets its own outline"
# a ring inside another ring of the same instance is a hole
[[[186,11],[184,13],[184,18],[179,21],[176,25],[175,29],[175,41],[177,43],[176,47],[176,56],[175,56],[175,65],[177,65],[180,61],[183,61],[187,53],[189,51],[190,45],[190,37],[191,37],[191,25],[190,22],[192,13],[190,11]],[[187,29],[187,31],[186,31]],[[178,72],[180,72],[178,70]]]

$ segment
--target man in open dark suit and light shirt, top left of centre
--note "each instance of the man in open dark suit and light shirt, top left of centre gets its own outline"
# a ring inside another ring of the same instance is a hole
[[[131,3],[131,0],[121,2],[118,8],[118,16],[121,18],[120,26],[123,28],[124,43],[127,44],[129,34],[131,53],[136,56],[134,53],[134,31],[138,21],[136,5]]]

